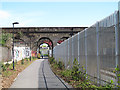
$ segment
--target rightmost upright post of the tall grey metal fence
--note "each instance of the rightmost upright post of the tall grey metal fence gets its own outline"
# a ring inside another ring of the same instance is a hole
[[[120,68],[120,30],[119,30],[119,12],[115,12],[115,56],[116,56],[116,68]],[[117,72],[118,74],[119,72]],[[116,75],[117,76],[117,75]],[[117,77],[119,82],[119,77]],[[118,83],[120,85],[120,83]]]

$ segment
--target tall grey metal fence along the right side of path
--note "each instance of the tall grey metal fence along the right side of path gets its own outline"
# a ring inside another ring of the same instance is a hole
[[[54,47],[55,60],[72,67],[76,58],[91,80],[104,84],[113,80],[119,66],[119,11]],[[81,70],[81,69],[80,69]]]

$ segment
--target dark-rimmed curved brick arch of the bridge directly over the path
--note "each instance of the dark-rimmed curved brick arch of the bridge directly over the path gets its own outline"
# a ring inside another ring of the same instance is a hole
[[[41,37],[37,41],[37,47],[38,47],[37,52],[40,53],[40,50],[41,50],[40,45],[42,45],[44,43],[47,44],[49,47],[49,51],[48,51],[49,56],[53,56],[53,46],[54,46],[53,41],[48,37]]]

